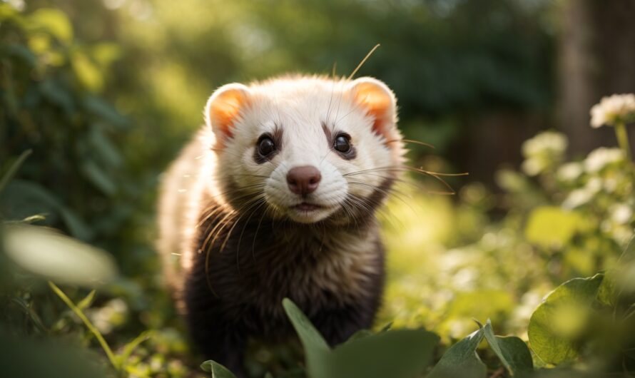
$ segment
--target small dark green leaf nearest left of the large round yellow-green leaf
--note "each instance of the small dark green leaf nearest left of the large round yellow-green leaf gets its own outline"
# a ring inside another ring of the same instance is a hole
[[[519,337],[494,336],[492,322],[487,320],[483,328],[485,339],[489,347],[501,360],[510,375],[514,376],[521,372],[531,372],[534,369],[532,353],[529,352],[527,344]]]

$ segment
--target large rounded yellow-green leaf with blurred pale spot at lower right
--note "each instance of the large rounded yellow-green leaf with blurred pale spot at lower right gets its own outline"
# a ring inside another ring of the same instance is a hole
[[[603,278],[597,274],[564,282],[534,311],[527,331],[529,345],[544,362],[561,364],[578,357]]]

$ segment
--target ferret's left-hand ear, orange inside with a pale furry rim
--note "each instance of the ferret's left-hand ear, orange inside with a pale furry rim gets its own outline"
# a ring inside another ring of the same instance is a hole
[[[205,106],[205,122],[216,136],[218,145],[224,145],[233,136],[233,126],[249,105],[249,88],[232,83],[218,88]]]

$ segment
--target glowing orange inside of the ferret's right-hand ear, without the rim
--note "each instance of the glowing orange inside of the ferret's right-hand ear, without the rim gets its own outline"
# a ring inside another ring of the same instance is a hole
[[[387,123],[392,121],[392,98],[383,88],[373,83],[360,83],[355,86],[355,101],[367,109],[374,118],[372,130],[384,135]]]

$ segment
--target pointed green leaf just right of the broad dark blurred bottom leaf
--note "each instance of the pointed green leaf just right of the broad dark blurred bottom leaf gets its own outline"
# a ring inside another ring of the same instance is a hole
[[[452,345],[427,378],[484,378],[487,367],[479,358],[476,349],[483,339],[483,329],[476,330]]]

